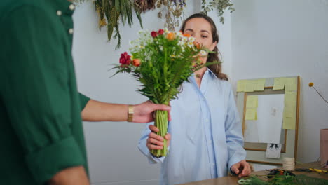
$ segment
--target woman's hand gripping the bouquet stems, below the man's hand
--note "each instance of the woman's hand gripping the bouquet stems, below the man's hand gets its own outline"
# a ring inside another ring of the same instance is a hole
[[[149,129],[151,130],[151,133],[148,135],[146,146],[149,150],[156,149],[160,150],[163,149],[164,146],[164,138],[160,137],[156,134],[156,132],[159,132],[159,129],[156,128],[154,125],[149,125]],[[165,139],[167,140],[167,145],[170,145],[170,139],[171,135],[168,133],[165,135]]]

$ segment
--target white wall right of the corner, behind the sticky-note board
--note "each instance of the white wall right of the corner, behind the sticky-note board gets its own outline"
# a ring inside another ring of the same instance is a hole
[[[231,18],[233,85],[247,78],[301,76],[298,160],[320,156],[328,128],[328,1],[235,0]]]

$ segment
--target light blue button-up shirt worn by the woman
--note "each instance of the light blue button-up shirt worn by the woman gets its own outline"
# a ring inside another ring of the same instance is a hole
[[[228,169],[246,157],[242,125],[231,85],[210,69],[200,88],[195,78],[182,85],[179,97],[170,102],[169,153],[155,158],[146,147],[148,125],[139,140],[139,150],[149,163],[161,163],[160,184],[173,185],[224,177]]]

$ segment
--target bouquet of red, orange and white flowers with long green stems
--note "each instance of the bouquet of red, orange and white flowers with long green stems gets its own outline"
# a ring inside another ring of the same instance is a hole
[[[131,73],[141,88],[139,93],[155,104],[168,105],[179,93],[179,87],[188,80],[193,71],[212,63],[202,64],[199,57],[209,52],[195,41],[195,38],[182,32],[139,31],[139,39],[130,41],[130,53],[122,53],[120,64],[114,67],[116,74]],[[115,75],[115,74],[114,74]],[[155,112],[157,134],[164,137],[168,129],[168,111]],[[153,156],[166,156],[167,144],[161,150],[152,150]]]

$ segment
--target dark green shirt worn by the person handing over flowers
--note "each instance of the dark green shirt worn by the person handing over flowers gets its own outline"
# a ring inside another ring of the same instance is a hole
[[[74,6],[0,1],[0,184],[45,184],[84,165],[86,147],[71,57]]]

